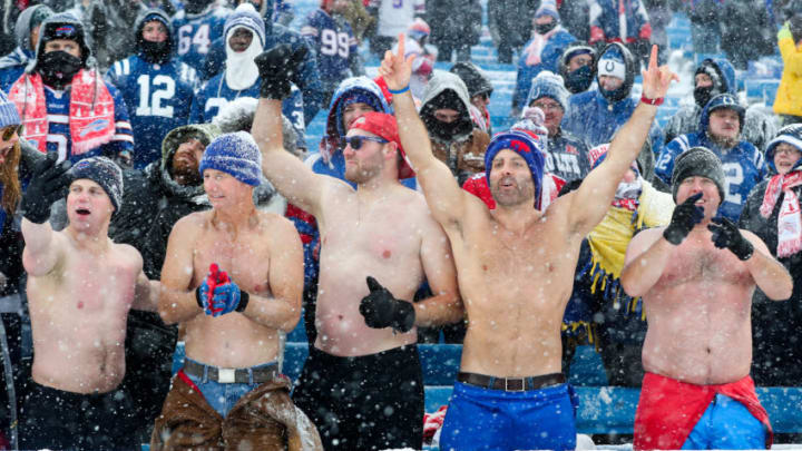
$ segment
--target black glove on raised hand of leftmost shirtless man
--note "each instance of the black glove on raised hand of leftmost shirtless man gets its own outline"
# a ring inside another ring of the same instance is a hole
[[[30,184],[22,196],[22,216],[35,224],[43,224],[50,217],[50,205],[65,196],[72,182],[67,175],[70,164],[65,160],[56,164],[58,155],[48,154],[33,168]]]

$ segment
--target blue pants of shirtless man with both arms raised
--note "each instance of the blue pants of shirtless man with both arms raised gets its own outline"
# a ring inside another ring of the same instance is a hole
[[[442,451],[574,450],[576,420],[568,384],[505,392],[454,383]]]

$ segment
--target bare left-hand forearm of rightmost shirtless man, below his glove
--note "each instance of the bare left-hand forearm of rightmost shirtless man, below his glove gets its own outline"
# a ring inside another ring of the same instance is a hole
[[[620,282],[624,291],[633,297],[643,296],[652,290],[676,248],[663,237],[664,228],[643,231],[629,242]]]

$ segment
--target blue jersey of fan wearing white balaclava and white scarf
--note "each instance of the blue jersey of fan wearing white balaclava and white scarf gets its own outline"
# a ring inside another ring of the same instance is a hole
[[[218,73],[213,79],[206,81],[195,96],[195,101],[189,112],[189,122],[211,122],[224,105],[239,97],[258,99],[261,85],[262,79],[257,78],[256,82],[251,85],[250,88],[242,90],[231,89],[228,84],[225,82],[225,72]],[[292,86],[290,97],[282,101],[282,115],[292,122],[299,143],[304,143],[306,124],[303,116],[303,96],[295,85]]]

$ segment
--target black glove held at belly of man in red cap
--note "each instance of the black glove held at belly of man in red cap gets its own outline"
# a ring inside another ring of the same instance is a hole
[[[393,297],[375,278],[368,276],[366,281],[371,292],[360,302],[360,313],[365,324],[373,329],[392,327],[398,332],[409,332],[414,325],[412,304]]]

